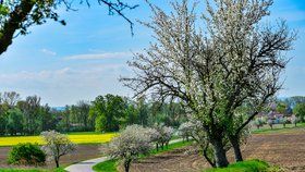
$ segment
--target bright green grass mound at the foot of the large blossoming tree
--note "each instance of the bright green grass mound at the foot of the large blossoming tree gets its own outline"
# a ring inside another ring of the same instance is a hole
[[[228,168],[208,169],[204,172],[266,172],[270,165],[260,160],[248,160],[229,164]]]

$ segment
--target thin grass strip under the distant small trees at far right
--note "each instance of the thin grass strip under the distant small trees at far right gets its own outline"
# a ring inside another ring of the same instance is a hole
[[[305,123],[298,123],[296,127],[294,124],[286,124],[285,127],[283,127],[282,124],[274,124],[273,128],[270,128],[269,125],[264,125],[259,130],[253,130],[253,134],[276,134],[276,133],[292,133],[296,130],[305,128]]]

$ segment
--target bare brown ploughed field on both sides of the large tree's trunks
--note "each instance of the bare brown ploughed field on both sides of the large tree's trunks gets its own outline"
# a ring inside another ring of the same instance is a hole
[[[186,156],[185,149],[150,157],[135,162],[132,172],[199,172],[209,168],[200,156]],[[245,159],[263,159],[272,164],[284,167],[289,172],[305,171],[305,132],[291,134],[253,135],[243,147]],[[233,160],[229,152],[230,161]]]

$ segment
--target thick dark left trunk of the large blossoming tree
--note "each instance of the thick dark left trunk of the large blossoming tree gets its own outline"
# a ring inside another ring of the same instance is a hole
[[[222,139],[218,138],[211,142],[213,148],[213,156],[217,168],[225,168],[229,164],[225,150],[223,148]]]

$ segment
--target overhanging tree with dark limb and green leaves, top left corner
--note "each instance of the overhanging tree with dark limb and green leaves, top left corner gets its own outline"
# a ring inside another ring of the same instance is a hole
[[[78,2],[90,4],[90,0]],[[138,5],[130,5],[121,0],[97,0],[97,2],[107,5],[110,15],[122,16],[133,27],[133,22],[123,11]],[[65,25],[65,22],[59,19],[58,9],[64,7],[66,10],[73,10],[73,3],[75,3],[73,0],[0,0],[0,54],[12,45],[14,37],[28,34],[28,27],[33,25],[41,25],[49,19]]]

